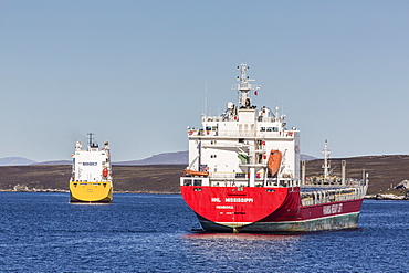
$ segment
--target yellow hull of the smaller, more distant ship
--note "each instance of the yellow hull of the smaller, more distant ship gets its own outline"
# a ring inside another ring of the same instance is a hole
[[[71,202],[111,202],[112,182],[70,182]]]

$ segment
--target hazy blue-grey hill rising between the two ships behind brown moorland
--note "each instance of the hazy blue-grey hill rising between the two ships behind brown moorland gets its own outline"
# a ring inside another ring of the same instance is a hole
[[[114,165],[183,165],[188,164],[188,151],[164,153],[140,160],[114,162]]]

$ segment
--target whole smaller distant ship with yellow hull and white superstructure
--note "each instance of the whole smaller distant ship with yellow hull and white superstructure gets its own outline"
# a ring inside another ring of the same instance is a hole
[[[88,134],[87,149],[82,149],[81,141],[75,144],[72,155],[72,177],[70,180],[71,202],[111,202],[113,200],[113,181],[109,145],[99,149]]]

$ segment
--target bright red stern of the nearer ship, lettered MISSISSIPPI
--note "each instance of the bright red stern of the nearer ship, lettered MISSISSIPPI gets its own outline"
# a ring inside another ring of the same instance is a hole
[[[180,186],[186,203],[207,231],[239,232],[279,209],[287,188]]]

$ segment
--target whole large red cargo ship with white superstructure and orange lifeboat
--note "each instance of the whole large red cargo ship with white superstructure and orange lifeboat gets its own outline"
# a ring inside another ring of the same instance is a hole
[[[350,229],[367,190],[361,180],[331,176],[325,141],[324,175],[305,178],[300,168],[300,130],[287,129],[279,107],[273,113],[251,104],[245,64],[220,116],[202,115],[202,128],[188,128],[189,166],[180,178],[181,195],[206,231],[308,232]]]

